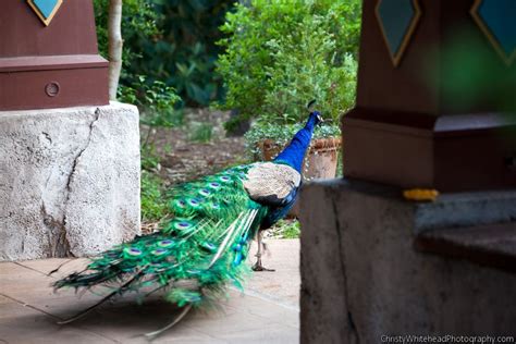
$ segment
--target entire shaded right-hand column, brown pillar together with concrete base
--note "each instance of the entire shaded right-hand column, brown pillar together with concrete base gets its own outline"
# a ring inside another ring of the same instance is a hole
[[[300,194],[302,343],[515,335],[515,21],[511,0],[364,0],[345,179]],[[472,71],[486,91],[452,97]]]

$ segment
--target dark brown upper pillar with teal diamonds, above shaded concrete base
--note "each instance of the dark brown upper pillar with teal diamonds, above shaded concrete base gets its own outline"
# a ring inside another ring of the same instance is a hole
[[[503,138],[516,136],[516,115],[500,113],[516,63],[496,49],[516,56],[516,2],[364,0],[363,9],[344,175],[440,192],[516,187],[516,140]],[[470,82],[459,87],[460,78]]]

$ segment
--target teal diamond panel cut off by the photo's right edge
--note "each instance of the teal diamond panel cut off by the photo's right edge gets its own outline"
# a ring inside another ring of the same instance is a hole
[[[516,49],[516,1],[483,0],[478,15],[508,57]]]

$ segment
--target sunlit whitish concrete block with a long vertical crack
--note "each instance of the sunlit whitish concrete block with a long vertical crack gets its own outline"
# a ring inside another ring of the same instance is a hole
[[[136,107],[0,112],[0,260],[97,254],[139,209]]]

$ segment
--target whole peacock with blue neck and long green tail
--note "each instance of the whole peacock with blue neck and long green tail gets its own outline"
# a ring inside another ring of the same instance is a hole
[[[56,290],[97,285],[112,290],[96,305],[60,323],[72,322],[125,292],[139,291],[145,297],[164,291],[165,300],[182,311],[167,327],[146,334],[153,337],[193,307],[216,303],[229,283],[242,287],[248,270],[243,261],[254,237],[259,243],[253,268],[267,271],[260,257],[261,233],[294,205],[303,160],[320,122],[320,113],[311,111],[306,125],[273,161],[233,167],[170,189],[170,217],[159,231],[105,251],[84,271],[53,284]]]

